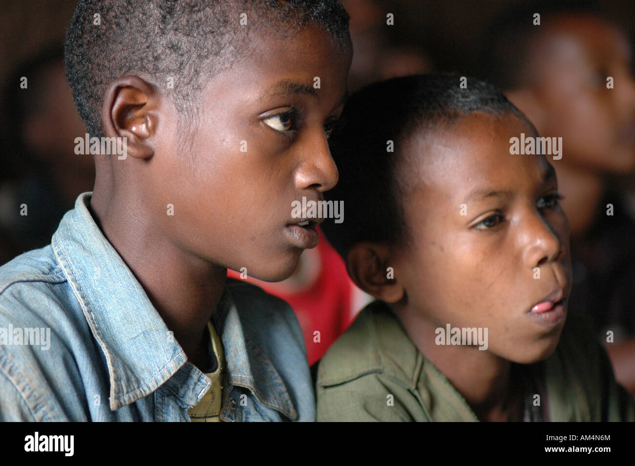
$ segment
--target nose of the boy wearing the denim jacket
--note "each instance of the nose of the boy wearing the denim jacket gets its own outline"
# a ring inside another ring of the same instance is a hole
[[[335,187],[339,173],[324,133],[307,138],[301,157],[302,163],[296,173],[298,189],[312,187],[324,192]]]

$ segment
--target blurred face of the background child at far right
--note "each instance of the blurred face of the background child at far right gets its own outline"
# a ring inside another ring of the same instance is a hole
[[[544,34],[532,60],[545,110],[541,136],[562,136],[559,163],[634,170],[635,83],[626,37],[589,16],[560,17]]]

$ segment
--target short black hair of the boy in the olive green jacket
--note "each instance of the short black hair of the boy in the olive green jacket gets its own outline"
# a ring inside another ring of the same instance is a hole
[[[354,93],[330,138],[331,155],[340,173],[327,200],[344,201],[344,222],[326,219],[321,227],[335,250],[346,258],[364,241],[407,244],[402,201],[403,174],[416,160],[399,149],[411,136],[447,128],[474,112],[491,116],[515,114],[533,125],[502,91],[471,77],[467,88],[458,74],[424,74],[389,79]],[[394,152],[389,152],[389,142]],[[412,157],[425,157],[414,154]]]

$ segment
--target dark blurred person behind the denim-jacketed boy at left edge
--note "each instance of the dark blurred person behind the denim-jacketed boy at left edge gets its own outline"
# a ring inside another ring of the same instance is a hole
[[[93,189],[93,157],[75,154],[75,138],[84,138],[86,129],[62,57],[61,47],[44,50],[4,84],[0,264],[50,243],[76,197]]]

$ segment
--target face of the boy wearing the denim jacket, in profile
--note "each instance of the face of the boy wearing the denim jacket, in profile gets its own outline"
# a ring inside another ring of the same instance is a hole
[[[201,93],[184,145],[176,130],[161,141],[174,156],[155,162],[152,196],[174,205],[173,217],[161,216],[164,229],[194,257],[277,281],[318,241],[314,227],[291,216],[292,201],[319,201],[338,180],[327,138],[352,51],[338,51],[317,28],[252,45]]]

